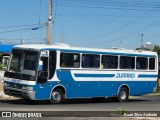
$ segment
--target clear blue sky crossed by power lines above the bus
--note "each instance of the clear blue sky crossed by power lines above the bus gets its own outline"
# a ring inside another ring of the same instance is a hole
[[[0,0],[0,42],[45,43],[47,20],[48,0]],[[52,41],[93,48],[160,45],[160,1],[53,0]]]

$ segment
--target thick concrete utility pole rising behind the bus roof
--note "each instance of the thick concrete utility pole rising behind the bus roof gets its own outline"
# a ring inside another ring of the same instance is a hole
[[[52,0],[48,0],[47,44],[52,45]]]

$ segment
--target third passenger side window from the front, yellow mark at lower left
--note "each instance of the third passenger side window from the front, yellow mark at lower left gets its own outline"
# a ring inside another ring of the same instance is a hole
[[[102,55],[102,69],[117,69],[118,56]]]

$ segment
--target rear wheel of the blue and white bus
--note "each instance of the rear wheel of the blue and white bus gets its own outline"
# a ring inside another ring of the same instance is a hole
[[[120,88],[117,98],[119,102],[126,102],[128,100],[128,91],[125,87]]]

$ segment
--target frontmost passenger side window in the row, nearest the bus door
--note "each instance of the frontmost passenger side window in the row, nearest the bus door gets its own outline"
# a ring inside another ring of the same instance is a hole
[[[79,68],[80,66],[80,54],[77,53],[61,53],[60,55],[60,67]]]

